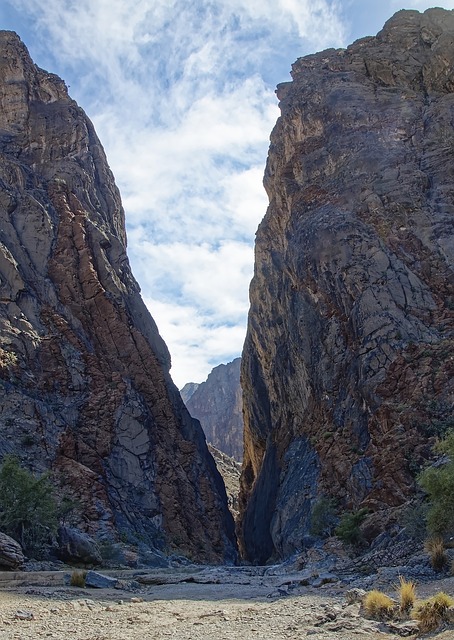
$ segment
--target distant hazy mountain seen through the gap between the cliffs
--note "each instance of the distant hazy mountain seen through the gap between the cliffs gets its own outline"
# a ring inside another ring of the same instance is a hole
[[[208,442],[235,460],[243,458],[243,403],[240,386],[241,358],[220,364],[206,382],[181,390],[186,407],[200,420]],[[188,397],[189,396],[189,397]]]

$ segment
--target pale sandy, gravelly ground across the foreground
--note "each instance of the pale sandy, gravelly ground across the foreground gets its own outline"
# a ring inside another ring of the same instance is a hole
[[[422,585],[421,597],[452,594],[454,578]],[[378,640],[396,638],[346,605],[347,586],[301,587],[276,595],[263,580],[249,584],[164,584],[121,589],[3,586],[0,638],[36,640]],[[271,597],[270,597],[271,596]],[[410,637],[415,637],[413,634]],[[428,636],[429,637],[429,636]],[[430,636],[453,640],[454,631]]]

